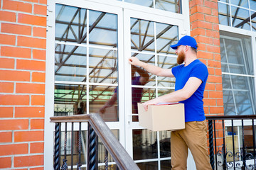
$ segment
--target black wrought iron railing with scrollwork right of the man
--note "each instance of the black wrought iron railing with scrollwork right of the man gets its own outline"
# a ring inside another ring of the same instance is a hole
[[[207,116],[206,119],[212,169],[256,169],[256,115]]]

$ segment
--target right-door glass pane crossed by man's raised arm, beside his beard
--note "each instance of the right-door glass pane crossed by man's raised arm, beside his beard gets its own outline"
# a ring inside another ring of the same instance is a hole
[[[175,67],[176,64],[176,57],[158,57],[158,66],[164,69],[171,69]],[[171,70],[170,70],[171,72]],[[158,86],[163,87],[174,87],[175,86],[175,78],[174,77],[157,77]]]

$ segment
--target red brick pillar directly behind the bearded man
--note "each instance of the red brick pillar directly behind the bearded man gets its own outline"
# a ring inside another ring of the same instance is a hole
[[[189,8],[191,36],[198,42],[198,59],[206,64],[209,72],[203,100],[204,111],[206,115],[224,115],[218,0],[191,0]],[[216,122],[216,136],[217,146],[221,146],[221,122]]]

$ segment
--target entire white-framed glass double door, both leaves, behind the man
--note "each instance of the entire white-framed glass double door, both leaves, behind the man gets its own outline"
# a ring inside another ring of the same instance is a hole
[[[136,56],[159,67],[174,67],[176,55],[170,45],[186,34],[186,15],[169,16],[166,11],[152,12],[152,8],[141,9],[119,1],[81,2],[85,1],[51,3],[55,10],[54,17],[49,18],[54,33],[53,38],[48,38],[48,53],[55,64],[48,72],[55,74],[50,82],[54,96],[50,92],[47,96],[54,98],[54,108],[47,112],[54,110],[55,116],[99,113],[140,169],[171,169],[171,132],[151,132],[140,127],[137,102],[174,91],[175,79],[132,68],[128,58]],[[78,125],[74,130],[78,130]],[[86,125],[82,131],[85,153]],[[68,133],[67,153],[72,147],[70,137]],[[52,145],[52,141],[46,140],[46,145]],[[104,165],[104,157],[105,149],[99,142],[100,166]],[[85,167],[85,156],[82,159]],[[111,158],[109,161],[114,167]]]

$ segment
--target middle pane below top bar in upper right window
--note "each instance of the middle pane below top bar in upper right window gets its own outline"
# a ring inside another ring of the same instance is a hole
[[[250,30],[249,11],[235,6],[231,6],[231,11],[233,27]]]

